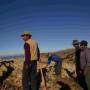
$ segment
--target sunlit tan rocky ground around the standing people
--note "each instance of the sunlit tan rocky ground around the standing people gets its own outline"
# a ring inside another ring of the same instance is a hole
[[[82,90],[82,88],[75,82],[75,61],[73,50],[56,52],[62,57],[62,68],[59,76],[52,75],[51,70],[46,72],[47,90]],[[47,60],[48,54],[41,55],[41,63],[44,64]],[[14,60],[14,71],[0,86],[0,90],[22,90],[22,67],[23,60]],[[5,67],[0,67],[0,76]]]

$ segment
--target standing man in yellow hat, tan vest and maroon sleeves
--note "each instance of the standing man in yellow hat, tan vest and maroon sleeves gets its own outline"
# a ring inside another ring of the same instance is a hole
[[[23,90],[37,90],[37,61],[40,58],[38,44],[29,32],[21,35],[24,40]],[[31,86],[31,87],[30,87]]]

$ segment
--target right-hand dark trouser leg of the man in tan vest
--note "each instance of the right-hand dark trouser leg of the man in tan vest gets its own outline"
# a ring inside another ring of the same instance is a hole
[[[37,61],[31,61],[31,90],[37,90]]]

